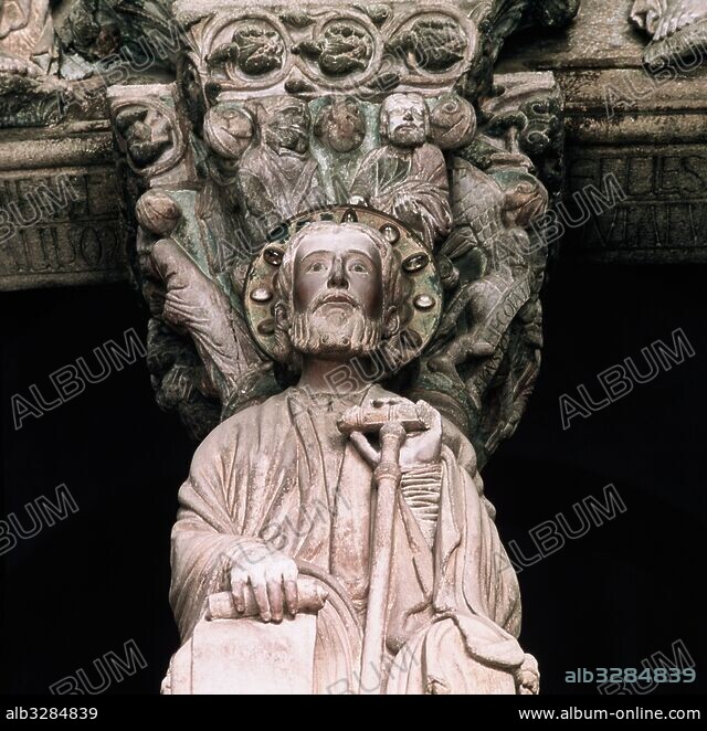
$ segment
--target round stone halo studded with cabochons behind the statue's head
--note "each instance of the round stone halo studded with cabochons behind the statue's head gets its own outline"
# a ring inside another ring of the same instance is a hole
[[[404,333],[398,343],[397,367],[419,357],[428,346],[442,317],[442,284],[432,253],[410,229],[386,213],[361,205],[331,205],[302,213],[281,223],[267,237],[247,273],[243,309],[249,328],[260,348],[273,358],[275,320],[274,279],[288,242],[309,223],[360,223],[383,234],[395,251],[400,266],[410,282],[409,314]]]

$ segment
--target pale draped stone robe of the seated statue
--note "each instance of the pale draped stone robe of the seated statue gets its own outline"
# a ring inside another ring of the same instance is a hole
[[[373,385],[363,398],[391,395]],[[289,389],[226,420],[198,448],[172,531],[170,600],[182,642],[208,596],[229,589],[243,547],[267,540],[328,591],[313,690],[357,690],[376,494],[372,468],[336,428],[352,403]],[[425,518],[399,492],[382,688],[516,692],[524,660],[516,575],[473,447],[446,422],[437,474],[432,532],[429,509]]]

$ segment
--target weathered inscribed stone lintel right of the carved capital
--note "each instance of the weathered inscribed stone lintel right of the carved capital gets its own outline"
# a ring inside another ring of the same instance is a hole
[[[625,10],[584,0],[566,38],[515,44],[500,67],[552,70],[564,93],[562,255],[704,262],[707,67],[696,57],[650,73]],[[592,205],[595,193],[605,202]]]

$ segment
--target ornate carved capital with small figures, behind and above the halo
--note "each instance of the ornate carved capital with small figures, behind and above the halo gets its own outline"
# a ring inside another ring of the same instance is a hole
[[[336,3],[175,6],[189,49],[176,83],[116,85],[108,96],[128,200],[159,189],[173,213],[167,243],[151,204],[138,204],[137,219],[128,204],[125,223],[154,315],[158,399],[192,432],[205,435],[219,413],[293,377],[275,378],[247,343],[245,276],[283,221],[347,202],[412,229],[442,271],[452,309],[418,354],[410,393],[472,435],[482,463],[513,432],[538,370],[547,250],[526,230],[561,186],[561,98],[547,74],[504,77],[496,88],[479,68],[527,10],[397,2],[382,14],[347,7],[339,18]],[[494,34],[479,44],[484,21]],[[487,192],[478,204],[469,184]],[[175,293],[191,282],[201,294],[176,307],[166,277]],[[209,307],[221,324],[211,338],[197,325]]]

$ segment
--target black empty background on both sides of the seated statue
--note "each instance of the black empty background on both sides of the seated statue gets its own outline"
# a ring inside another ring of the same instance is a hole
[[[704,494],[707,381],[704,266],[587,265],[560,257],[545,292],[541,377],[517,434],[484,472],[502,539],[528,533],[612,483],[626,511],[526,568],[521,643],[547,693],[577,667],[641,667],[683,640],[705,691]],[[194,445],[155,404],[145,361],[114,372],[42,419],[12,425],[11,396],[52,393],[49,375],[133,327],[146,312],[128,285],[0,295],[0,518],[64,483],[80,510],[3,557],[2,658],[8,692],[45,693],[135,640],[147,667],[107,692],[156,693],[178,647],[167,601],[169,532]],[[682,328],[696,356],[563,431],[559,396]],[[656,692],[674,692],[675,685]]]

